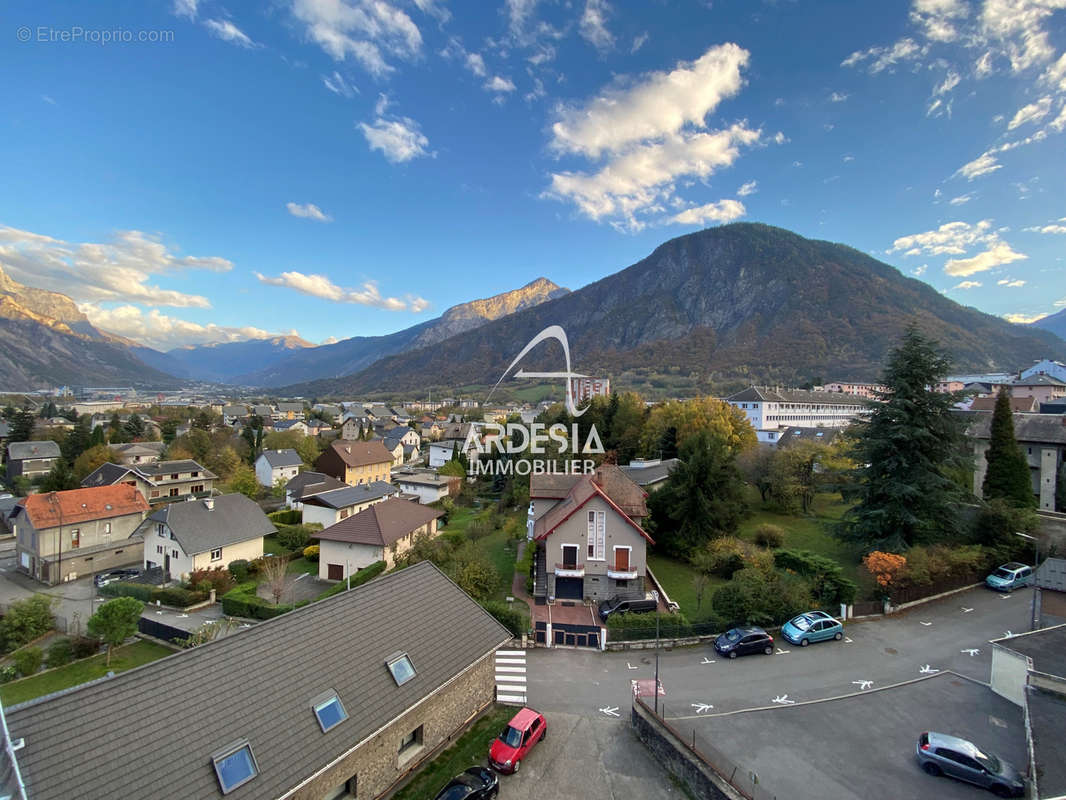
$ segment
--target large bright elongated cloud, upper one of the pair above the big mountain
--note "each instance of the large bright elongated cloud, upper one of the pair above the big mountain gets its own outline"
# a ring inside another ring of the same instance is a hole
[[[608,89],[584,106],[561,108],[551,146],[597,158],[685,125],[702,128],[723,99],[740,92],[740,70],[748,58],[737,45],[716,45],[669,73],[651,73],[628,89]]]

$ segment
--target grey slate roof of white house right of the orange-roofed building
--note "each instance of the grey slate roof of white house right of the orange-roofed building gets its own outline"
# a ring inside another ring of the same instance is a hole
[[[169,502],[149,514],[141,527],[156,523],[165,523],[189,556],[277,532],[259,505],[242,494]]]

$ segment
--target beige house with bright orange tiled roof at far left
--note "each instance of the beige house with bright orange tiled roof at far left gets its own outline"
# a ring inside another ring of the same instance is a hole
[[[148,513],[132,486],[96,486],[30,495],[9,512],[15,569],[49,586],[141,560],[130,537]]]

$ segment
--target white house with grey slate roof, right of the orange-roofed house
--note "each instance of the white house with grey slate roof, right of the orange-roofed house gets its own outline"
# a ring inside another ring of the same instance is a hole
[[[168,502],[152,511],[138,530],[144,537],[144,567],[187,580],[194,570],[226,566],[263,555],[263,537],[274,524],[242,494]]]

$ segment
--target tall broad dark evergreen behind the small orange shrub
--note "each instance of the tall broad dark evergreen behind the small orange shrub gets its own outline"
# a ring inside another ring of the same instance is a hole
[[[882,383],[885,401],[858,423],[854,480],[837,534],[866,549],[900,553],[914,544],[958,532],[949,508],[962,492],[946,475],[959,458],[962,420],[955,398],[931,388],[950,363],[937,342],[914,325],[889,354]]]

